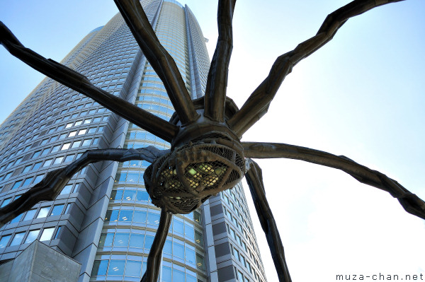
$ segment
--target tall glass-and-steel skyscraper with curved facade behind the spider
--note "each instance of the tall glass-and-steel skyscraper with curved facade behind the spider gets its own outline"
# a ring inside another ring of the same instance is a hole
[[[143,0],[162,45],[192,98],[205,90],[210,60],[191,10],[174,0]],[[163,119],[174,109],[157,74],[118,14],[74,47],[62,64],[96,86]],[[0,206],[88,149],[169,148],[84,95],[45,78],[0,127]],[[75,175],[55,201],[42,202],[0,229],[0,261],[40,240],[81,264],[79,281],[139,281],[159,223],[143,182],[149,163],[101,162]],[[176,215],[161,281],[266,281],[242,186]]]

